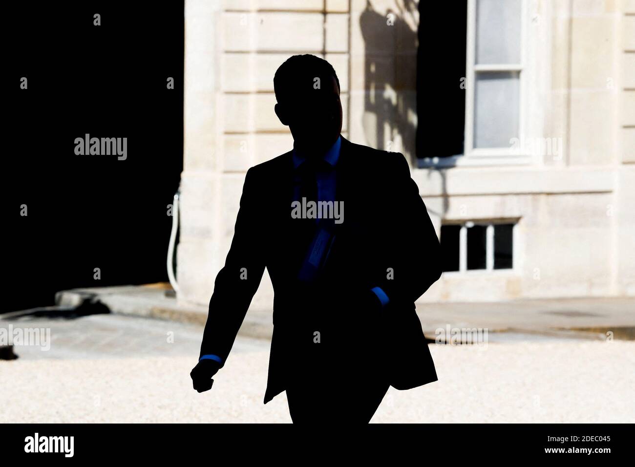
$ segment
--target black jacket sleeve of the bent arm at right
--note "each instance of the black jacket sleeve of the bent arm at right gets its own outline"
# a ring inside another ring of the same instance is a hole
[[[413,303],[441,277],[441,247],[403,154],[392,153],[389,181],[394,233],[378,287],[391,302]]]

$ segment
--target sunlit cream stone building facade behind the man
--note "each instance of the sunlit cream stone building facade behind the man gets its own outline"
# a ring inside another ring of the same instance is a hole
[[[186,0],[180,302],[209,301],[246,170],[292,147],[273,76],[298,53],[337,71],[344,137],[411,161],[448,254],[422,301],[635,295],[635,1],[465,7],[464,151],[441,158],[416,137],[425,5]]]

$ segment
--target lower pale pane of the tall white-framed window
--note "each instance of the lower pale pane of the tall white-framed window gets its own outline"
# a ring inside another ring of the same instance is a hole
[[[510,147],[518,137],[518,72],[477,72],[474,147]]]

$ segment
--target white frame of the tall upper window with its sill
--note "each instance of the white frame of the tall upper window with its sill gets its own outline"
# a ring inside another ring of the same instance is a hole
[[[529,133],[530,102],[528,93],[533,91],[530,83],[530,63],[528,60],[529,37],[527,31],[528,18],[531,17],[530,1],[521,0],[521,30],[520,38],[520,63],[518,64],[486,64],[476,65],[476,2],[467,0],[467,53],[465,60],[465,129],[464,129],[464,154],[450,157],[432,157],[420,159],[419,168],[446,168],[453,166],[490,166],[490,165],[528,165],[534,163],[530,152],[525,145],[520,149],[509,147],[474,148],[474,88],[476,85],[476,72],[481,71],[516,71],[519,74],[519,123],[518,138],[522,141]],[[533,118],[533,117],[532,117]]]

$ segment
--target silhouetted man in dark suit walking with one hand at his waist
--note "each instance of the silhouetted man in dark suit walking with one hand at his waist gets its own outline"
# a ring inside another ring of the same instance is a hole
[[[340,135],[340,85],[326,60],[289,58],[274,91],[293,150],[246,174],[194,389],[210,389],[225,365],[267,267],[264,402],[286,390],[294,423],[368,423],[389,386],[437,380],[414,302],[441,275],[439,241],[404,156]]]

